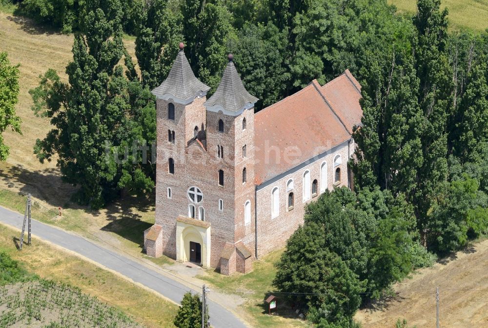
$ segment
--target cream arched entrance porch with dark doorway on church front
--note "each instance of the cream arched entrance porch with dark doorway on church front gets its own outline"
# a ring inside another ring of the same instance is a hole
[[[176,219],[176,260],[210,268],[210,222],[179,216]]]

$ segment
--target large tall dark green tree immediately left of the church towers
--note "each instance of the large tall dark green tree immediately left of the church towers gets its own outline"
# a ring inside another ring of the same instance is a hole
[[[75,36],[68,83],[49,70],[31,91],[35,113],[49,117],[55,127],[37,140],[34,152],[41,162],[57,154],[63,180],[81,187],[76,200],[100,208],[123,187],[151,189],[151,178],[142,174],[147,170],[141,169],[142,157],[128,162],[116,154],[128,153],[121,148],[136,137],[150,136],[151,130],[154,134],[154,119],[135,123],[155,116],[154,103],[149,104],[153,97],[147,90],[143,94],[133,87],[138,82],[127,81],[118,65],[126,53],[120,1],[89,0],[81,12],[83,34]]]

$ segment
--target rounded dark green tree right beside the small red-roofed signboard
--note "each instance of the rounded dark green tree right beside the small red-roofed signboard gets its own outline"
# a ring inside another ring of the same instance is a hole
[[[350,318],[361,304],[364,291],[358,276],[324,244],[316,224],[300,227],[287,241],[277,264],[273,286],[290,293],[287,298],[307,306],[309,319],[319,322]],[[294,294],[296,293],[296,294]]]

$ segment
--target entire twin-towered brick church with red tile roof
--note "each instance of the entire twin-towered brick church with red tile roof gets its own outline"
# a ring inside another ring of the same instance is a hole
[[[346,70],[254,113],[232,55],[216,92],[193,74],[180,44],[157,98],[156,222],[149,256],[223,274],[281,248],[325,190],[351,187],[361,86]]]

